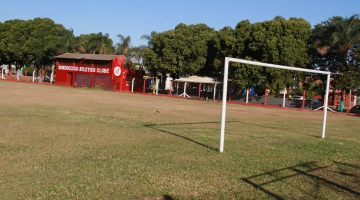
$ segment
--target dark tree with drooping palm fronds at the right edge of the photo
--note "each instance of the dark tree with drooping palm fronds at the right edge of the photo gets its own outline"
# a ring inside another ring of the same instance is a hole
[[[316,24],[311,43],[311,67],[314,69],[339,72],[342,75],[331,75],[331,86],[334,89],[355,89],[360,84],[360,19],[355,14],[349,18],[333,16]],[[318,87],[324,94],[326,77],[320,78]]]

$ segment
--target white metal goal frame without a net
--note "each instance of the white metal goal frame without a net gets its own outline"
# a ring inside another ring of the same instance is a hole
[[[264,63],[264,62],[255,62],[255,61],[237,59],[237,58],[232,58],[232,57],[225,57],[224,78],[223,78],[223,84],[222,84],[223,85],[223,87],[222,87],[222,109],[221,109],[220,148],[219,148],[220,152],[223,152],[223,145],[224,145],[226,96],[227,96],[227,73],[228,73],[228,63],[229,62],[237,62],[237,63],[243,63],[243,64],[257,65],[257,66],[266,66],[266,67],[273,67],[273,68],[280,68],[280,69],[288,69],[288,70],[294,70],[294,71],[303,71],[303,72],[310,72],[310,73],[326,74],[327,75],[326,92],[325,92],[325,96],[324,96],[321,138],[325,137],[326,114],[327,114],[327,98],[328,98],[328,90],[329,90],[329,82],[330,82],[330,74],[331,74],[331,72],[313,70],[313,69],[305,69],[305,68],[298,68],[298,67],[292,67],[292,66],[283,66],[283,65],[277,65],[277,64],[269,64],[269,63]]]

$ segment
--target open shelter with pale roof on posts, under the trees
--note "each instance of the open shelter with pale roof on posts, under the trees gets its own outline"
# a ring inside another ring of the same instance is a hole
[[[191,83],[198,83],[198,96],[197,98],[200,98],[201,95],[201,85],[203,85],[203,91],[205,90],[205,84],[211,84],[213,85],[213,99],[215,99],[215,92],[216,92],[216,85],[222,83],[222,80],[220,77],[212,77],[212,76],[198,76],[198,75],[192,75],[192,76],[188,76],[188,77],[180,77],[177,78],[175,80],[173,80],[176,83],[176,95],[177,95],[177,91],[178,91],[178,84],[179,82],[183,82],[184,83],[184,89],[183,92],[181,94],[179,94],[178,96],[183,96],[183,97],[189,97],[191,98],[187,93],[186,93],[186,84],[188,82]]]

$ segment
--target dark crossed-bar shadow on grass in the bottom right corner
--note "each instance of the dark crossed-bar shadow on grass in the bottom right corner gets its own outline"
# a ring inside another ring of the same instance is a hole
[[[258,189],[258,190],[266,193],[267,195],[269,195],[269,196],[271,196],[271,197],[273,197],[275,199],[285,199],[285,197],[282,197],[280,194],[274,193],[274,192],[270,191],[269,189],[266,189],[264,186],[268,185],[270,183],[274,183],[274,182],[281,181],[281,180],[284,180],[284,179],[287,179],[287,178],[290,178],[290,177],[294,177],[294,176],[298,176],[298,175],[306,176],[306,177],[314,180],[318,185],[324,184],[328,188],[336,189],[337,191],[341,191],[342,193],[347,192],[348,194],[352,194],[352,195],[354,195],[356,197],[360,197],[360,192],[355,191],[354,189],[351,189],[351,188],[349,188],[347,186],[336,183],[336,182],[334,182],[332,180],[328,180],[326,178],[320,177],[318,175],[311,174],[310,172],[325,169],[325,168],[329,167],[329,166],[316,166],[316,167],[313,167],[312,165],[314,165],[316,163],[317,162],[313,161],[313,162],[307,162],[307,163],[298,164],[298,165],[294,165],[294,166],[289,166],[289,167],[285,167],[285,168],[280,168],[280,169],[276,169],[276,170],[256,174],[256,175],[253,175],[253,176],[249,176],[249,177],[244,177],[244,178],[241,178],[241,180],[248,183],[248,184],[250,184],[255,189]],[[307,168],[307,169],[306,170],[299,169],[299,168],[304,168],[304,167]],[[289,170],[290,172],[293,172],[293,173],[291,173],[289,175],[282,175],[282,176],[276,176],[275,175],[275,173],[283,172],[285,170]],[[263,182],[263,181],[261,181],[261,177],[265,178],[264,176],[271,176],[271,177],[274,177],[274,179]],[[252,180],[252,179],[255,179],[255,178],[260,178],[261,183],[256,183],[256,181]],[[317,185],[317,187],[318,187],[318,185]]]

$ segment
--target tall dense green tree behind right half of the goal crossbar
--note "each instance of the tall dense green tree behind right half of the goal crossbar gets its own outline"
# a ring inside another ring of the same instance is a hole
[[[310,59],[307,43],[311,36],[311,25],[302,18],[290,17],[288,20],[277,16],[274,20],[265,21],[266,40],[263,60],[280,65],[307,67]],[[298,71],[266,68],[269,73],[270,85],[276,90],[279,88],[299,85],[306,78],[306,73]]]

